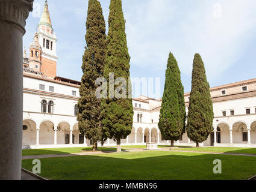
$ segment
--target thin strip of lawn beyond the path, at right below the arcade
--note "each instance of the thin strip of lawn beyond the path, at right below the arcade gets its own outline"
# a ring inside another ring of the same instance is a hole
[[[230,148],[230,147],[201,147],[201,148],[178,148],[173,151],[200,151],[200,152],[221,152],[231,154],[256,154],[256,148]]]

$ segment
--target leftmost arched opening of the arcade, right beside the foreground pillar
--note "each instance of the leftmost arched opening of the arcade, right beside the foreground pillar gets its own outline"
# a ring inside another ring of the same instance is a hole
[[[31,119],[23,120],[22,145],[36,145],[36,122]]]

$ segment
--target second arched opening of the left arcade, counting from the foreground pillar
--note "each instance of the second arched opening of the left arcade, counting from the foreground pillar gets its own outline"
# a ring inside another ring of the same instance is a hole
[[[54,124],[49,120],[40,124],[39,143],[40,145],[54,144]]]

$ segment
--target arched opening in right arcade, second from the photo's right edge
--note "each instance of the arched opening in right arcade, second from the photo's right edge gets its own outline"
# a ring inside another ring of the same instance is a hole
[[[236,122],[233,124],[233,141],[234,143],[247,143],[248,130],[244,122]]]

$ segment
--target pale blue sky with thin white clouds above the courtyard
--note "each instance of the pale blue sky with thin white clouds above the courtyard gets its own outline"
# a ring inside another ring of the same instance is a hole
[[[100,0],[108,30],[110,0]],[[23,46],[30,47],[45,0],[34,0]],[[57,34],[57,76],[81,80],[87,0],[48,0]],[[204,61],[211,87],[256,78],[255,0],[122,0],[131,77],[160,78],[163,95],[169,52],[178,61],[184,92],[191,90],[193,58]],[[148,84],[149,86],[149,84]]]

